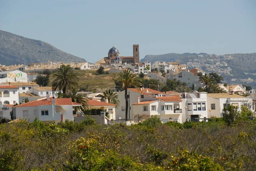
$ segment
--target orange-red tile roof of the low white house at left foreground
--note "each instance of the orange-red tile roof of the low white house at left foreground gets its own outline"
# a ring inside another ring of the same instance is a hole
[[[30,106],[43,106],[43,105],[52,105],[52,98],[47,100],[44,99],[38,99],[35,101],[30,101],[27,103],[19,104],[15,107],[30,107]],[[57,106],[64,106],[64,105],[81,105],[81,103],[75,103],[71,101],[71,98],[59,98],[55,99],[55,105]]]

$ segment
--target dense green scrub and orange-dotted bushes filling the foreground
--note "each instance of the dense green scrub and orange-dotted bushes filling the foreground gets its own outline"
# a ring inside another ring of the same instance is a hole
[[[254,171],[256,121],[0,125],[0,170]]]

